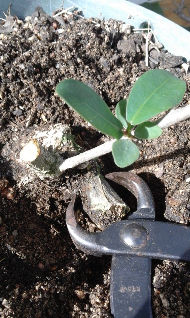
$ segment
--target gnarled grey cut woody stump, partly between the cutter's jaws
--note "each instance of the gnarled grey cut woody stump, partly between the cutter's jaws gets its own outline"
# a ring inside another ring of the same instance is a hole
[[[38,142],[40,139],[42,145]],[[77,155],[79,150],[69,126],[58,124],[33,136],[22,149],[20,158],[41,180],[56,179],[63,174],[59,167],[64,159]],[[88,165],[89,162],[85,162],[82,168]],[[85,178],[79,180],[78,190],[88,217],[99,230],[104,230],[120,220],[129,208],[104,179],[96,160],[92,160],[90,166]]]

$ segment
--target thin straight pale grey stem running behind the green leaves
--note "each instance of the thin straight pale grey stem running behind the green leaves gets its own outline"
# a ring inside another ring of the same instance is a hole
[[[172,109],[168,114],[163,116],[161,119],[155,121],[155,123],[162,129],[168,128],[171,125],[175,125],[180,121],[186,120],[190,117],[190,105],[179,109]],[[129,139],[128,137],[123,136],[122,139]],[[93,149],[87,150],[77,156],[66,159],[60,165],[60,171],[63,172],[66,169],[71,169],[79,164],[94,159],[96,157],[103,156],[109,152],[111,152],[112,144],[116,141],[113,139],[109,142],[105,142],[104,144],[95,147]]]

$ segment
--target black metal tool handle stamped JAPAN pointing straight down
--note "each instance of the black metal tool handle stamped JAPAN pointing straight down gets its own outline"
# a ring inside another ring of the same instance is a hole
[[[112,257],[110,305],[115,318],[152,318],[151,259]]]

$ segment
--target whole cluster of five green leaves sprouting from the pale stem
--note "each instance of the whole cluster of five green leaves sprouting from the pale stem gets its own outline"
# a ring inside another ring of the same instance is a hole
[[[135,139],[154,139],[162,134],[162,129],[149,120],[179,104],[185,90],[186,83],[172,73],[150,70],[136,81],[128,100],[117,103],[114,116],[105,101],[84,83],[65,79],[56,86],[67,105],[99,131],[116,139],[112,155],[120,168],[139,157]]]

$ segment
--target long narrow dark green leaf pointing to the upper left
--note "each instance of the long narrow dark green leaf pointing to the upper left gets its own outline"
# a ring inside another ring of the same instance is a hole
[[[106,135],[122,137],[122,124],[111,113],[105,101],[84,83],[65,79],[56,86],[56,92],[80,116]]]

